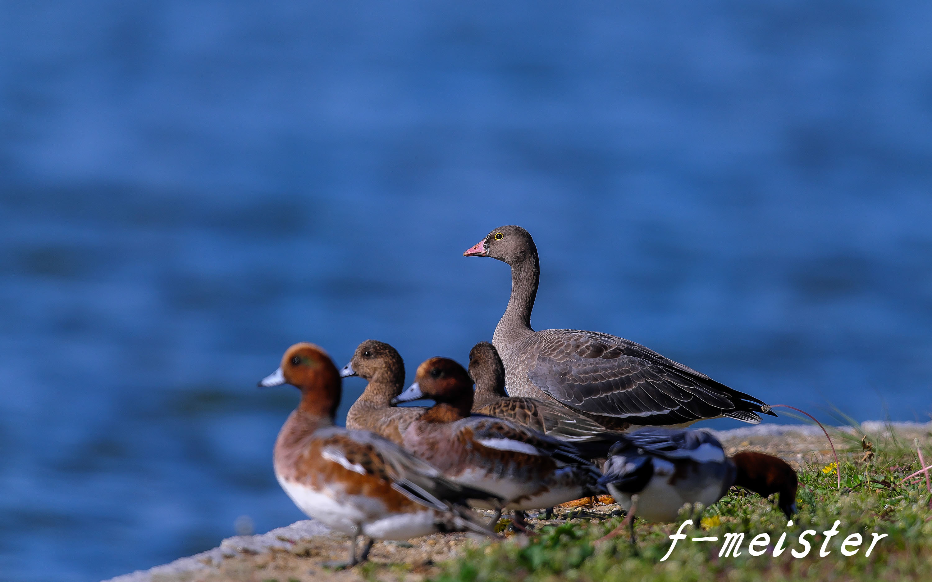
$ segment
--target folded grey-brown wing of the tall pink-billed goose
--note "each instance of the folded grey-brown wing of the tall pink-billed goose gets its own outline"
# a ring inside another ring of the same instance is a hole
[[[761,421],[763,402],[706,374],[620,337],[597,332],[538,332],[528,379],[571,408],[637,424],[674,425],[731,416]]]

